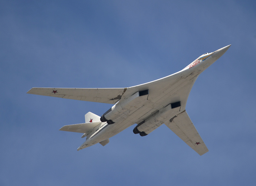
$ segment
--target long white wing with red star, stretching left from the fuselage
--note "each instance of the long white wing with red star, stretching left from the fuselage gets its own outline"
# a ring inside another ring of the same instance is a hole
[[[127,88],[32,88],[27,93],[88,102],[115,104]]]

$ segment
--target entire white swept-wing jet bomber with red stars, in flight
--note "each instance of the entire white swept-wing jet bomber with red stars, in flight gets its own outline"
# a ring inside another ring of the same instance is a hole
[[[114,104],[101,117],[88,112],[85,123],[65,125],[59,130],[83,133],[86,141],[77,150],[100,143],[137,123],[133,132],[146,136],[163,123],[199,155],[208,152],[191,122],[186,103],[198,75],[219,59],[229,46],[205,53],[183,70],[161,79],[128,88],[32,88],[29,94]]]

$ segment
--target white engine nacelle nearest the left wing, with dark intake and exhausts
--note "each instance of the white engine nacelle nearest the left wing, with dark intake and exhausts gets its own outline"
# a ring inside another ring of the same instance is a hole
[[[121,119],[120,116],[122,113],[126,112],[127,110],[132,111],[136,109],[134,105],[138,106],[138,104],[146,100],[146,95],[148,95],[148,90],[143,90],[136,92],[122,102],[116,103],[101,116],[101,122],[107,122],[108,124],[117,122],[119,119]]]

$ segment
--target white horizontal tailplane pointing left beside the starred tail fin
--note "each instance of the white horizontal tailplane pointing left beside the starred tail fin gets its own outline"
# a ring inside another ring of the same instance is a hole
[[[94,127],[101,124],[101,122],[92,122],[92,123],[80,123],[80,124],[70,124],[61,127],[62,131],[68,132],[79,132],[79,133],[89,133]]]

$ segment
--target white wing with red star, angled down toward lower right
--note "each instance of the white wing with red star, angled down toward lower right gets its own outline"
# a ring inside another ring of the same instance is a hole
[[[191,122],[186,110],[174,116],[168,123],[165,123],[165,125],[200,156],[209,151],[198,134],[196,127]]]

